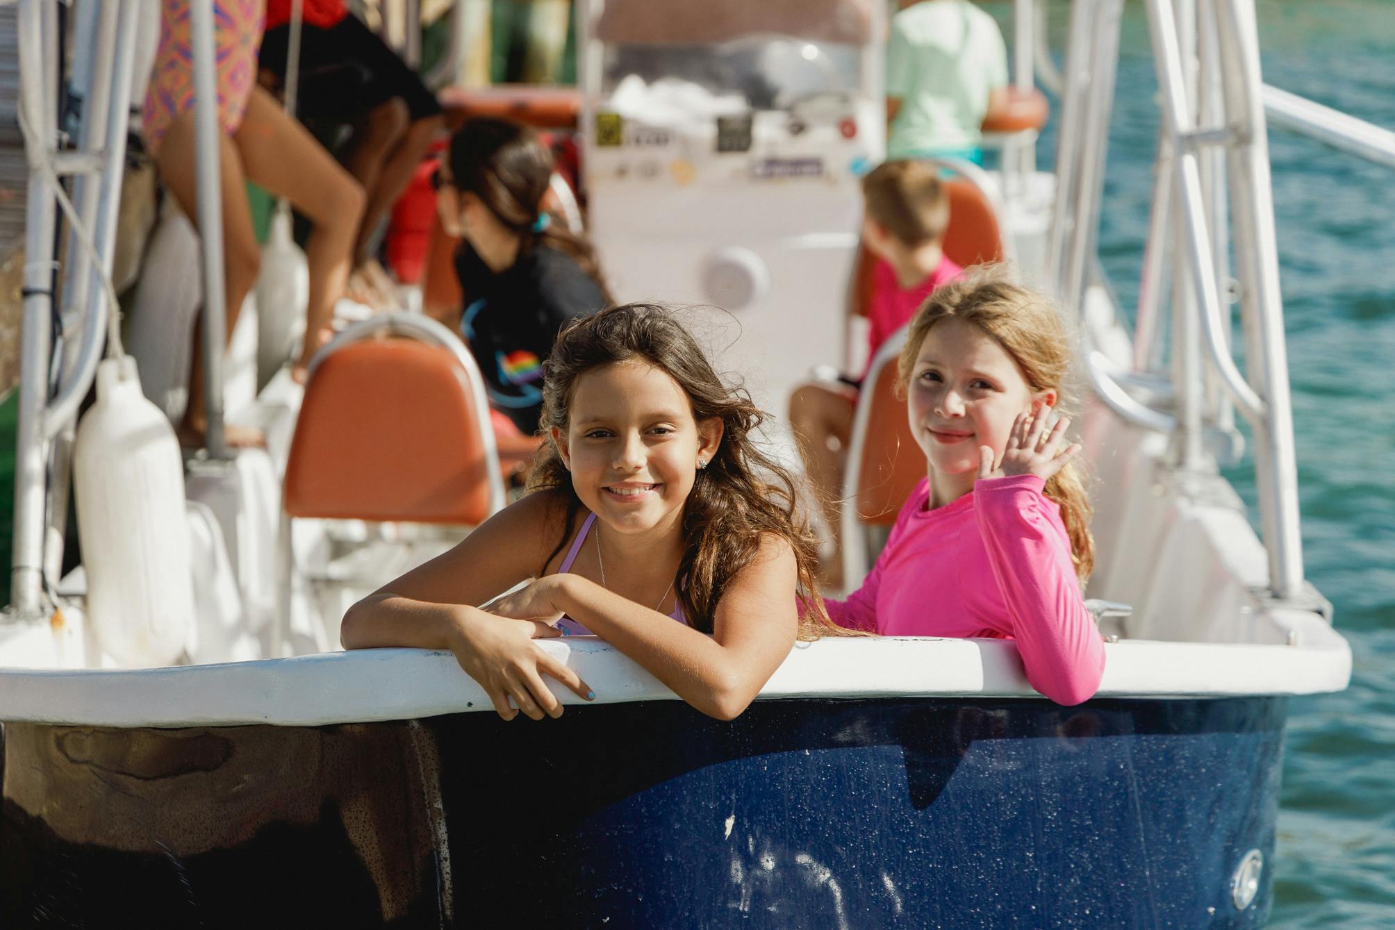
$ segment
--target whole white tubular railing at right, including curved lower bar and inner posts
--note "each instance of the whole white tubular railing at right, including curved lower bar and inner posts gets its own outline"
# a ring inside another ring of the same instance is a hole
[[[1134,321],[1133,369],[1165,375],[1170,390],[1140,399],[1119,361],[1089,343],[1087,290],[1098,277],[1096,237],[1117,71],[1122,0],[1077,0],[1062,82],[1056,212],[1048,269],[1080,311],[1091,386],[1116,414],[1172,438],[1170,463],[1215,468],[1208,436],[1251,425],[1269,594],[1303,591],[1297,468],[1269,181],[1265,92],[1251,0],[1148,0],[1162,124]],[[1304,110],[1309,123],[1320,114]],[[1331,117],[1328,127],[1336,124]],[[1343,125],[1343,138],[1357,127]],[[1374,127],[1371,127],[1374,128]],[[1380,139],[1360,132],[1367,145]],[[1392,146],[1391,151],[1395,151]],[[1236,268],[1230,269],[1233,248]],[[1161,337],[1170,279],[1170,332]],[[1246,369],[1232,353],[1239,307]],[[1232,443],[1230,448],[1237,448]]]

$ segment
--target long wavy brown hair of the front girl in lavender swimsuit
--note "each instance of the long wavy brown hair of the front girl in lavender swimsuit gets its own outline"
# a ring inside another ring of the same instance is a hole
[[[794,551],[801,595],[799,639],[840,634],[829,620],[815,576],[817,541],[795,505],[794,478],[755,442],[764,413],[741,388],[730,388],[707,361],[698,340],[672,311],[654,304],[624,304],[573,319],[557,336],[544,363],[541,429],[566,431],[572,392],[587,371],[622,361],[643,361],[668,374],[692,404],[693,420],[721,420],[717,453],[698,471],[684,505],[685,548],[678,566],[684,613],[710,633],[727,586],[756,558],[763,535],[777,535]],[[562,551],[576,527],[582,501],[557,446],[543,443],[529,491],[566,495],[562,537],[538,573]]]

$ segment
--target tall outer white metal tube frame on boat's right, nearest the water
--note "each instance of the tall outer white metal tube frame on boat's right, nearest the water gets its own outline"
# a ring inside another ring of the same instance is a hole
[[[1189,33],[1214,29],[1215,49],[1193,56],[1183,47],[1175,7],[1189,17]],[[1253,0],[1205,0],[1193,8],[1175,0],[1149,0],[1147,4],[1152,32],[1158,84],[1162,91],[1163,139],[1159,144],[1159,171],[1151,231],[1166,229],[1166,216],[1176,211],[1180,220],[1179,254],[1173,257],[1175,296],[1182,300],[1173,332],[1175,360],[1182,368],[1177,378],[1177,439],[1182,463],[1191,467],[1201,449],[1201,404],[1205,379],[1214,376],[1229,395],[1256,432],[1256,482],[1260,491],[1261,534],[1269,562],[1269,587],[1275,597],[1290,598],[1303,588],[1303,556],[1299,535],[1297,467],[1293,450],[1293,422],[1288,382],[1288,356],[1283,342],[1282,300],[1278,276],[1278,247],[1274,237],[1274,201],[1269,178],[1268,137],[1261,102],[1258,35]],[[1196,21],[1190,17],[1200,14]],[[1207,70],[1209,84],[1193,85],[1186,68]],[[1216,84],[1219,82],[1219,84]],[[1193,100],[1214,93],[1205,102],[1208,123],[1201,125]],[[1208,165],[1211,184],[1202,184],[1201,152],[1223,149],[1228,162]],[[1228,188],[1216,177],[1228,170]],[[1169,190],[1170,188],[1170,190]],[[1212,215],[1207,213],[1207,190],[1212,197]],[[1219,236],[1225,231],[1215,211],[1225,209],[1219,194],[1229,190],[1233,206],[1236,276],[1240,284],[1240,318],[1247,342],[1249,375],[1235,364],[1229,347],[1229,317],[1222,304],[1218,280],[1219,258],[1225,250]],[[1149,244],[1152,247],[1152,244]],[[1144,275],[1141,310],[1145,340],[1151,343],[1155,319],[1156,269]],[[1205,356],[1198,354],[1204,347]],[[1149,363],[1151,344],[1137,347],[1136,363]],[[1204,367],[1198,367],[1204,358]],[[1212,411],[1222,428],[1223,407]]]

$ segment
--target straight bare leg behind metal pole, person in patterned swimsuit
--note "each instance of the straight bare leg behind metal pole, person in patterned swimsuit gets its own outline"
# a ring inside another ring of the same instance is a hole
[[[261,248],[252,233],[251,212],[247,205],[247,190],[243,183],[243,162],[227,135],[219,132],[219,190],[223,201],[223,300],[226,339],[233,337],[233,326],[243,301],[257,283],[261,269]],[[165,141],[155,158],[160,178],[174,194],[180,209],[198,227],[198,184],[194,167],[194,112],[187,110],[174,117]],[[184,420],[179,425],[180,443],[197,448],[204,445],[208,427],[204,397],[204,339],[202,321],[194,330],[194,351],[190,364],[188,404]],[[226,344],[226,342],[225,342]],[[265,445],[265,438],[257,429],[229,425],[225,429],[232,446]]]

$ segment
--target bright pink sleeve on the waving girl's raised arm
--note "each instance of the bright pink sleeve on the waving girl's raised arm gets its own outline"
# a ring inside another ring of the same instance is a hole
[[[1080,594],[1070,537],[1036,475],[979,478],[974,513],[1027,680],[1057,704],[1094,696],[1105,644]]]

